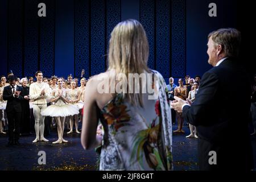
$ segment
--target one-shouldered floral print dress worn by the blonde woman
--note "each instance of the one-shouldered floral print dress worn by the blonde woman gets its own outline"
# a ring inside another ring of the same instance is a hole
[[[148,100],[142,94],[143,107],[132,106],[117,94],[102,110],[104,135],[100,170],[171,170],[172,125],[165,81],[158,78],[154,90],[158,97]]]

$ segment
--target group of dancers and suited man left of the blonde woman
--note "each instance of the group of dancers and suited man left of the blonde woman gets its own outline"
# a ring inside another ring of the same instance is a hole
[[[84,75],[84,71],[81,74]],[[81,86],[78,86],[78,79],[72,80],[72,75],[68,76],[68,80],[56,76],[47,79],[43,77],[41,71],[35,73],[36,81],[32,77],[29,80],[27,78],[18,80],[13,73],[9,73],[7,76],[9,83],[7,83],[6,77],[1,76],[0,133],[6,134],[2,126],[5,124],[6,114],[9,145],[19,145],[20,126],[21,129],[24,129],[25,125],[30,122],[30,109],[35,118],[36,134],[32,143],[49,141],[44,138],[44,119],[46,117],[51,117],[52,122],[55,119],[57,123],[58,139],[52,142],[53,144],[68,142],[63,138],[64,122],[67,121],[67,118],[70,123],[70,131],[67,134],[73,133],[74,123],[76,133],[80,134],[79,114],[82,114],[84,106],[84,89],[87,81],[82,75]]]

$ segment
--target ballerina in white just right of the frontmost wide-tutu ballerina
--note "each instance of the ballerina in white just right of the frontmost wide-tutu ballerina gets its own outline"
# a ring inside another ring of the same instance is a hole
[[[72,80],[71,81],[71,89],[69,89],[69,96],[71,98],[70,103],[77,106],[78,109],[82,109],[84,106],[83,102],[79,102],[81,93],[79,90],[76,89],[76,81]],[[76,133],[80,134],[80,131],[78,130],[79,127],[79,122],[78,122],[78,114],[73,115],[70,118],[70,131],[68,131],[67,134],[73,133],[73,126],[74,126],[74,121],[75,121],[75,126],[76,126]]]

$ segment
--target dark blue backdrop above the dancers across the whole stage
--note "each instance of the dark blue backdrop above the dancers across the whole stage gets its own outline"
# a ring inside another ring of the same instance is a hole
[[[46,3],[46,17],[38,4]],[[209,17],[209,3],[217,17]],[[207,35],[223,27],[242,32],[241,61],[255,73],[252,5],[245,1],[208,0],[1,0],[0,75],[19,77],[38,70],[44,76],[85,77],[104,72],[110,32],[121,20],[139,20],[148,36],[148,65],[168,77],[203,75]],[[251,45],[251,46],[250,46]],[[175,79],[176,80],[176,79]]]

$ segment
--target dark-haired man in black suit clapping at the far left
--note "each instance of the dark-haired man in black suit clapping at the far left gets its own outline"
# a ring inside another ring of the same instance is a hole
[[[9,77],[9,86],[3,89],[3,100],[7,100],[6,113],[8,119],[9,146],[19,145],[20,119],[22,118],[22,86],[16,85],[16,77]]]

